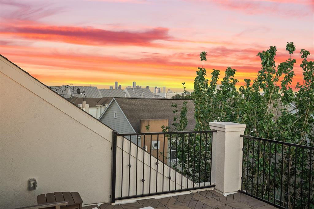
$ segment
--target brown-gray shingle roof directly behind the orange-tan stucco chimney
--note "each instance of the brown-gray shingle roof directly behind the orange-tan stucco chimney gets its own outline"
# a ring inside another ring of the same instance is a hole
[[[173,113],[174,108],[171,107],[171,104],[177,104],[177,117],[180,117],[183,102],[186,101],[188,124],[185,131],[194,130],[194,104],[191,99],[115,98],[115,100],[136,132],[139,132],[140,119],[168,119],[169,131],[176,131],[172,125],[175,114]]]

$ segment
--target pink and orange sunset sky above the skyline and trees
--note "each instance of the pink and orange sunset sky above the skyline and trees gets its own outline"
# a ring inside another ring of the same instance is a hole
[[[136,81],[192,90],[204,67],[237,70],[239,85],[260,69],[259,51],[277,46],[276,63],[294,42],[314,54],[314,1],[3,1],[0,53],[46,85],[122,88]],[[221,72],[221,74],[223,74]],[[221,77],[222,78],[222,77]]]

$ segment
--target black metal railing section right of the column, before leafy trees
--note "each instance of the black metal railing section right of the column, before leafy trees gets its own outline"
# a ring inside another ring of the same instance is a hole
[[[279,208],[314,208],[314,147],[241,137],[240,192]]]

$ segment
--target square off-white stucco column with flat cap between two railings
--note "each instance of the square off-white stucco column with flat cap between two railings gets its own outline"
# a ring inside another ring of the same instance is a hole
[[[235,192],[241,189],[242,146],[246,125],[232,122],[210,122],[213,133],[212,181],[216,189]]]

